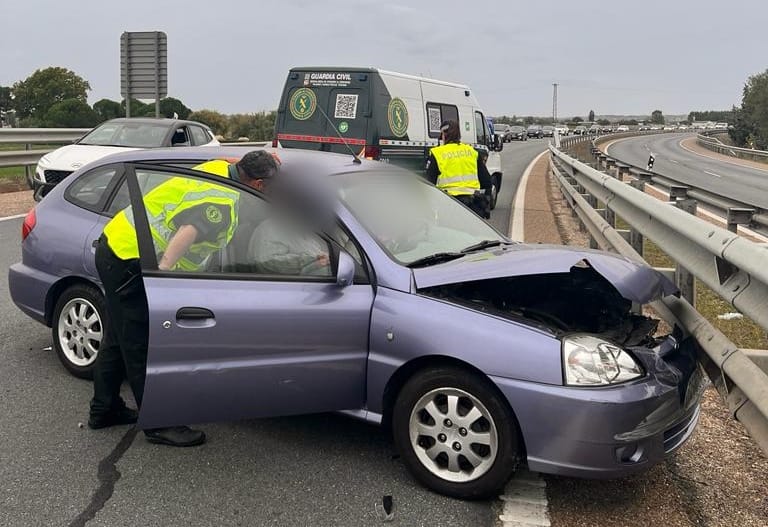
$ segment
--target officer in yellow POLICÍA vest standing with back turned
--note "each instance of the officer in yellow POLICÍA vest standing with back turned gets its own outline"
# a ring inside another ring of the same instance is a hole
[[[491,175],[477,150],[461,142],[459,124],[453,120],[440,125],[440,138],[442,144],[430,150],[427,179],[481,218],[490,218]]]

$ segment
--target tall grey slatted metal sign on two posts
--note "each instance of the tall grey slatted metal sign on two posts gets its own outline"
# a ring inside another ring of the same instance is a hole
[[[131,98],[154,99],[160,117],[160,99],[168,95],[168,37],[162,31],[124,32],[120,36],[120,93],[125,115],[131,116]]]

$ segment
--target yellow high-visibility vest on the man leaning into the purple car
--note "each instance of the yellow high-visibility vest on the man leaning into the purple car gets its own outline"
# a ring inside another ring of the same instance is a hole
[[[237,202],[240,194],[220,185],[182,177],[173,177],[158,185],[144,196],[149,230],[160,254],[178,230],[174,218],[181,212],[198,205],[221,205],[229,209],[229,227],[218,233],[215,242],[193,243],[174,269],[197,271],[206,263],[208,256],[224,247],[237,228]],[[104,227],[109,247],[118,258],[128,260],[139,257],[136,224],[133,209],[129,206],[120,211]]]

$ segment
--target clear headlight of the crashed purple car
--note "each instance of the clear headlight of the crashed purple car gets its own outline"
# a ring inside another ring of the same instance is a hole
[[[592,335],[563,339],[563,369],[568,386],[606,386],[645,375],[632,355]]]

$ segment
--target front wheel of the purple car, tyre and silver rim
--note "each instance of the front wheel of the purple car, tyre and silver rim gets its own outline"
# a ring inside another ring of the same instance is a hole
[[[506,401],[488,379],[461,368],[411,377],[395,401],[392,433],[414,477],[454,498],[498,495],[518,462],[519,428]]]

